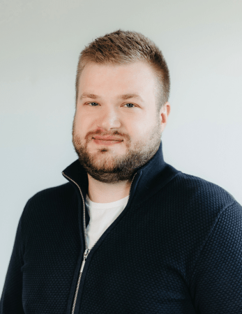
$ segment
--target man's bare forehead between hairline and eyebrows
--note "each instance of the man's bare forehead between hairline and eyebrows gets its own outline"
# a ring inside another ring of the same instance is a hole
[[[158,82],[151,66],[142,61],[127,65],[87,63],[80,74],[78,98],[135,99],[156,97]]]

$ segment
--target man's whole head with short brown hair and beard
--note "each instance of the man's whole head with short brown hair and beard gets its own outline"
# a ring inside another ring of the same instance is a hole
[[[169,115],[160,50],[139,33],[108,34],[82,51],[76,82],[73,144],[80,162],[98,181],[130,179],[156,154]]]

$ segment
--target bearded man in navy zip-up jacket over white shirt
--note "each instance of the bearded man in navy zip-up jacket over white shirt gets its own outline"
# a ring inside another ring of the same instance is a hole
[[[1,314],[242,313],[241,205],[165,163],[168,97],[165,59],[142,34],[82,51],[78,160],[27,202]]]

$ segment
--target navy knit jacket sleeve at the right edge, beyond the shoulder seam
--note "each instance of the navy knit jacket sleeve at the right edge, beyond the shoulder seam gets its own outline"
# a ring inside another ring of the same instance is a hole
[[[191,281],[197,313],[242,313],[242,207],[220,214],[199,255]]]

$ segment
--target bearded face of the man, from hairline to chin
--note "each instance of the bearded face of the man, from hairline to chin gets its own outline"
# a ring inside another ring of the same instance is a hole
[[[73,144],[86,171],[98,181],[131,179],[160,145],[156,76],[149,64],[88,63],[78,90]]]

